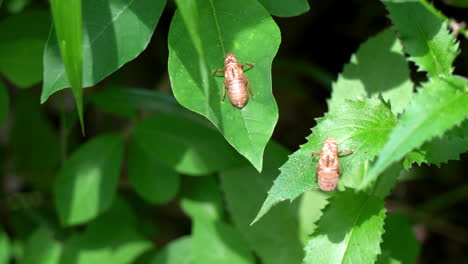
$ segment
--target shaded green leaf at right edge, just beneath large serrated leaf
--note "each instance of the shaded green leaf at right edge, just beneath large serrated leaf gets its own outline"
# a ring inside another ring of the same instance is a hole
[[[403,161],[405,168],[410,168],[413,163],[435,164],[440,167],[449,160],[460,160],[460,154],[468,151],[468,138],[464,135],[468,135],[468,119],[460,127],[454,127],[441,138],[434,138],[406,155]]]

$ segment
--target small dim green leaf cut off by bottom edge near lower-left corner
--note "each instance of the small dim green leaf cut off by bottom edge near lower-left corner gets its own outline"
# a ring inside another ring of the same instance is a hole
[[[23,264],[59,264],[62,244],[54,238],[55,234],[40,227],[24,245]]]

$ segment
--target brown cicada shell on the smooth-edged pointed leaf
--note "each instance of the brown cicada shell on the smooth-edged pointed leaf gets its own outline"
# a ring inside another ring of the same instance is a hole
[[[254,66],[254,64],[251,63],[240,64],[234,54],[228,53],[224,59],[224,70],[217,69],[213,72],[213,74],[224,72],[222,101],[224,102],[226,90],[228,90],[229,100],[233,106],[239,109],[244,108],[249,101],[249,92],[252,96],[254,95],[249,78],[244,75],[245,65],[250,67]]]

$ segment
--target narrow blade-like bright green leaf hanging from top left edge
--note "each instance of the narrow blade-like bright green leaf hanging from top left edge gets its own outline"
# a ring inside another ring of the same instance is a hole
[[[81,0],[51,0],[50,7],[66,78],[75,97],[81,131],[84,134]],[[44,85],[43,91],[45,89]]]

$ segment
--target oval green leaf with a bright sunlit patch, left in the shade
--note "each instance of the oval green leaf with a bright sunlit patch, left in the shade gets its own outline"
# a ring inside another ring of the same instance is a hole
[[[123,138],[101,135],[81,145],[65,162],[54,185],[55,206],[64,226],[87,222],[114,200],[123,158]]]

